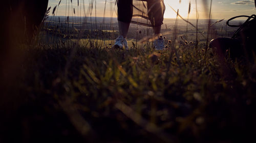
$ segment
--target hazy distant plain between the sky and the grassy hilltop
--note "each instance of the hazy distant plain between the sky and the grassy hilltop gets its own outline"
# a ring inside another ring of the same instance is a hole
[[[136,18],[141,21],[143,19]],[[212,19],[212,23],[218,19]],[[220,20],[220,19],[219,19]],[[148,21],[150,22],[150,21]],[[196,25],[196,19],[189,19],[189,22]],[[233,20],[232,24],[240,24],[242,20]],[[187,41],[196,41],[196,29],[185,22],[182,19],[164,19],[162,25],[163,36],[166,40],[172,40],[174,25],[178,25],[177,37],[181,43],[184,41],[180,38],[181,36]],[[199,39],[201,42],[205,42],[207,36],[208,19],[199,19],[198,31]],[[79,30],[79,31],[78,31]],[[210,38],[214,39],[217,37],[231,37],[237,30],[236,27],[228,27],[226,20],[216,23],[212,26]],[[65,17],[65,16],[49,16],[45,22],[43,31],[45,34],[53,34],[58,37],[69,37],[69,38],[97,38],[102,40],[113,41],[118,37],[118,22],[115,17]],[[78,34],[79,33],[79,34]],[[129,41],[136,41],[153,35],[153,30],[150,27],[131,24],[130,31],[127,35]],[[110,42],[110,41],[109,41]]]

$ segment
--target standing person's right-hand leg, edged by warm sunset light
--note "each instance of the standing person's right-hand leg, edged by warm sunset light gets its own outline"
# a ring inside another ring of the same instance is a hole
[[[151,20],[155,35],[161,32],[165,6],[162,0],[147,0],[147,14]]]

